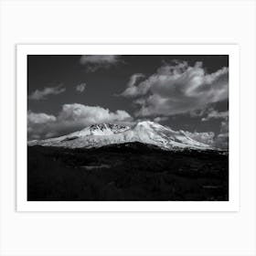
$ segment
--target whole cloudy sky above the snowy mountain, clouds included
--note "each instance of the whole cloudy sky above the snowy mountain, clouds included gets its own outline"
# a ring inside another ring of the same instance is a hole
[[[28,140],[142,120],[227,148],[229,56],[27,56]]]

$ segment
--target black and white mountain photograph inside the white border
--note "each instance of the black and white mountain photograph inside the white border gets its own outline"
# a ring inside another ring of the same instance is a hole
[[[28,201],[229,201],[229,55],[27,55]]]

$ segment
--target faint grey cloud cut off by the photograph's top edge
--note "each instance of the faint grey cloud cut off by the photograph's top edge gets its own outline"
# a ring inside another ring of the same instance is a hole
[[[85,66],[88,72],[108,69],[119,62],[121,62],[121,55],[82,55],[80,57],[80,64]]]

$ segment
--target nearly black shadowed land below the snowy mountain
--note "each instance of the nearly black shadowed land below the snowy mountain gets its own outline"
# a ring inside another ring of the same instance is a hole
[[[28,146],[27,200],[229,200],[229,156],[140,143]]]

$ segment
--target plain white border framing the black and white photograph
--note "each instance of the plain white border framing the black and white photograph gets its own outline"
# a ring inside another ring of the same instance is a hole
[[[27,201],[27,55],[229,55],[229,201]],[[17,45],[17,211],[239,211],[240,59],[238,45]]]

